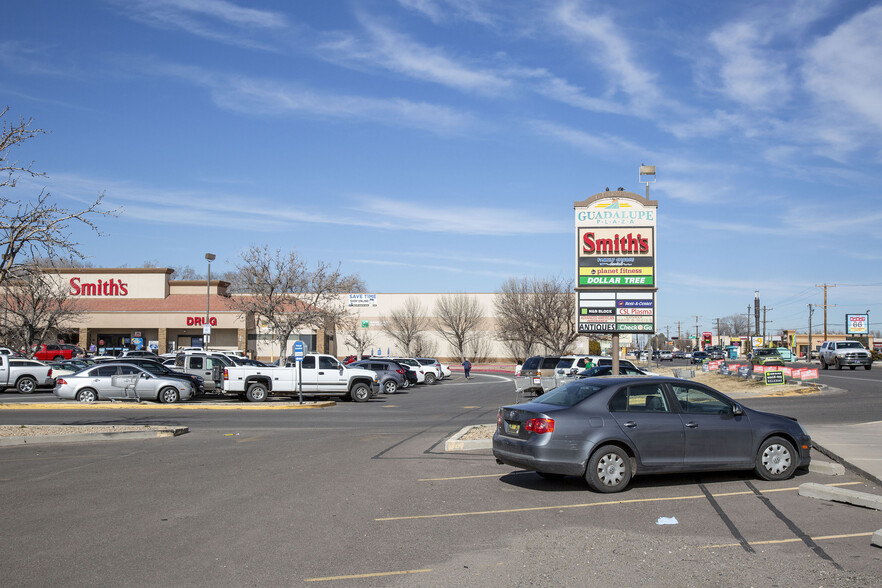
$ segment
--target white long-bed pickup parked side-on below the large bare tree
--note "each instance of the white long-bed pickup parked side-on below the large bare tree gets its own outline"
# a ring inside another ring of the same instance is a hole
[[[297,396],[297,374],[303,373],[304,396],[335,396],[366,402],[380,391],[376,372],[350,368],[332,355],[309,354],[303,365],[286,367],[231,366],[224,368],[223,393],[250,402],[269,396]]]

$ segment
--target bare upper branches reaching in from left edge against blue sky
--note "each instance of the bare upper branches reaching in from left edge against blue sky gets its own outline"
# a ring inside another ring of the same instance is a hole
[[[0,111],[0,118],[8,111],[8,107]],[[117,216],[119,213],[118,209],[101,209],[103,192],[85,208],[74,210],[60,206],[45,190],[24,200],[7,196],[7,191],[16,187],[21,176],[45,176],[34,171],[31,163],[21,165],[9,159],[16,147],[45,133],[33,126],[33,119],[20,119],[18,123],[4,120],[0,131],[0,284],[10,277],[11,272],[14,274],[17,266],[27,264],[21,261],[21,256],[29,259],[83,259],[79,243],[71,238],[71,225],[79,223],[101,234],[95,224],[96,217]]]

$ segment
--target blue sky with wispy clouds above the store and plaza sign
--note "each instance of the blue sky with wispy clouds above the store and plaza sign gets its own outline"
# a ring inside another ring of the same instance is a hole
[[[124,209],[76,232],[98,267],[267,243],[373,292],[571,278],[573,201],[646,163],[660,329],[757,289],[805,328],[823,283],[830,325],[882,325],[880,29],[843,0],[14,2],[0,104],[51,131],[16,197]]]

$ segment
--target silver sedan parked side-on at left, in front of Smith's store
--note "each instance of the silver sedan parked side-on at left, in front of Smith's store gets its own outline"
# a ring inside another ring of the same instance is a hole
[[[149,399],[165,404],[189,400],[193,387],[187,381],[156,376],[136,365],[107,363],[56,379],[53,394],[80,402]]]

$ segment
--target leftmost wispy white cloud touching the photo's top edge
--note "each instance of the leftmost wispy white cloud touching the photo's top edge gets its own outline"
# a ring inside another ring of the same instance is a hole
[[[227,0],[105,1],[126,17],[149,26],[254,49],[272,49],[264,35],[289,27],[282,13],[244,8]]]

